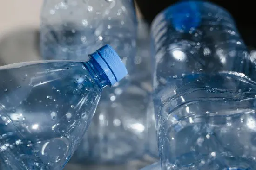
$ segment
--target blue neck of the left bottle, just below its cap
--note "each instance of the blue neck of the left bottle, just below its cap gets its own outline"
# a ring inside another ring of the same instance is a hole
[[[101,66],[96,62],[94,58],[91,58],[88,62],[84,63],[84,65],[101,89],[106,86],[111,86],[107,75],[104,73],[103,69],[101,69]]]

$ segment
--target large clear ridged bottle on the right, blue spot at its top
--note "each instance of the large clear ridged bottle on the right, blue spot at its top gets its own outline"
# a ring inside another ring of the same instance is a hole
[[[180,2],[151,30],[162,170],[256,169],[255,63],[230,14]]]

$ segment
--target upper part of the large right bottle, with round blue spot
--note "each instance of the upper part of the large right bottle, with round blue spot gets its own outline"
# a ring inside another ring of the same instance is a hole
[[[154,89],[191,73],[236,71],[254,76],[253,58],[232,17],[219,6],[177,3],[158,14],[151,30]]]

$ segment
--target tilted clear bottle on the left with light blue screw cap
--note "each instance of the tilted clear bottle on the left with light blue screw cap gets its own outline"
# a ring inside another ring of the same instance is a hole
[[[10,170],[61,170],[67,164],[102,89],[127,74],[108,45],[89,58],[0,67],[1,164]]]

